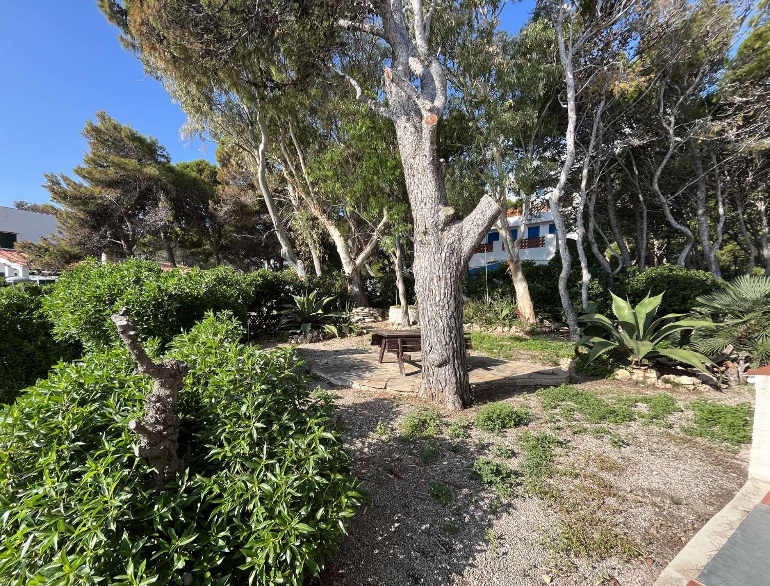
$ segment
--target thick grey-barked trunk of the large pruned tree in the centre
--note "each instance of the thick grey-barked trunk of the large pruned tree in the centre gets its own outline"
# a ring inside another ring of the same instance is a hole
[[[500,208],[485,195],[473,212],[458,220],[447,200],[436,152],[447,78],[437,52],[428,45],[434,5],[426,14],[421,0],[412,0],[409,11],[401,0],[374,3],[382,28],[370,22],[340,21],[390,45],[391,67],[385,67],[383,75],[387,105],[367,98],[358,82],[340,73],[353,85],[357,99],[390,119],[396,129],[414,225],[413,270],[422,330],[420,398],[459,410],[471,400],[461,283],[478,241]],[[420,89],[412,84],[413,75],[420,78]]]

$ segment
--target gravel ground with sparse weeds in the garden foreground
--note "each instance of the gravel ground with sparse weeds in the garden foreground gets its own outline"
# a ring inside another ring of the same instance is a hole
[[[362,343],[353,338],[323,344],[342,350]],[[502,400],[531,407],[534,420],[500,435],[470,427],[470,437],[459,441],[444,433],[436,438],[440,457],[423,464],[420,450],[430,440],[402,440],[399,431],[403,417],[427,403],[404,393],[321,386],[336,394],[354,472],[369,497],[314,586],[652,584],[745,482],[748,446],[681,434],[680,425],[691,420],[688,410],[671,415],[668,427],[638,421],[605,425],[623,440],[618,448],[607,436],[573,434],[569,424],[554,417],[557,411],[542,411],[531,394],[535,389],[499,388],[477,397],[477,406],[464,415],[472,419],[480,404]],[[659,392],[611,380],[576,386],[609,397]],[[683,405],[695,398],[679,390],[669,393]],[[740,389],[707,398],[728,404],[753,400]],[[447,423],[457,417],[445,415]],[[376,433],[380,421],[390,427],[391,437]],[[557,489],[554,499],[531,496],[522,485],[504,500],[469,477],[474,460],[490,456],[495,444],[514,449],[513,457],[497,460],[520,470],[517,436],[524,430],[546,430],[564,440],[556,450],[558,472],[548,481]],[[430,496],[431,485],[439,481],[451,492],[447,507]],[[559,547],[564,531],[577,535],[578,544],[587,543],[588,554],[565,553]],[[595,543],[610,545],[596,554]],[[624,554],[614,551],[615,543],[627,545]]]

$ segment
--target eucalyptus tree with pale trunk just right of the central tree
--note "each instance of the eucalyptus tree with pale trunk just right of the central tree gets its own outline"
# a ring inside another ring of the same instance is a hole
[[[500,201],[498,232],[504,243],[508,272],[521,318],[536,320],[529,286],[521,266],[521,242],[532,200],[547,185],[556,128],[554,104],[559,71],[553,28],[544,20],[527,23],[517,35],[500,31],[504,2],[477,6],[474,18],[459,28],[447,63],[454,89],[450,112],[470,126],[470,146],[462,156],[477,162],[480,182]],[[451,117],[451,115],[450,115]],[[450,159],[450,162],[451,159]],[[467,172],[453,169],[454,173]],[[464,186],[465,187],[465,186]],[[472,198],[472,192],[468,193]],[[521,223],[514,238],[508,206],[520,206]]]

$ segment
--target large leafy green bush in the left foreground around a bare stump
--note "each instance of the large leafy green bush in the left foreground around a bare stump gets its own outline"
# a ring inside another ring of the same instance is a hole
[[[0,581],[296,585],[318,574],[359,484],[301,363],[243,346],[242,333],[208,316],[170,343],[166,356],[190,367],[178,411],[187,468],[163,491],[128,427],[152,383],[122,347],[56,367],[5,410]]]

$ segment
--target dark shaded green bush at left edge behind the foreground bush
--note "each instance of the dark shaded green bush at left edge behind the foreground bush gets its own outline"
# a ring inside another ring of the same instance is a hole
[[[0,289],[0,404],[12,403],[19,390],[45,377],[59,360],[72,360],[79,344],[59,342],[42,312],[45,289]]]

